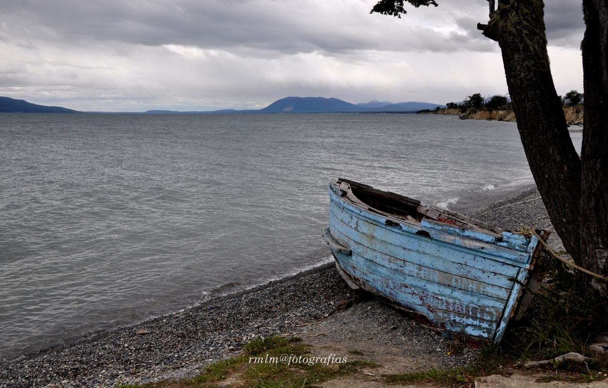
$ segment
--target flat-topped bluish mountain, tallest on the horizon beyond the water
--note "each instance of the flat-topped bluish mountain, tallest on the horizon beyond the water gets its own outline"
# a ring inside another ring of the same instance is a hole
[[[355,112],[361,107],[338,99],[325,99],[324,97],[285,97],[277,100],[256,113],[329,113],[329,112]]]

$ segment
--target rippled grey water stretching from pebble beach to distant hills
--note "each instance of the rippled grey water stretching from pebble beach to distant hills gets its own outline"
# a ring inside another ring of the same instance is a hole
[[[327,260],[338,176],[443,206],[532,183],[507,122],[2,114],[0,360]]]

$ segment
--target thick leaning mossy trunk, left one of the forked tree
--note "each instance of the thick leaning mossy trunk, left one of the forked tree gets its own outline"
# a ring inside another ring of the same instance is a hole
[[[581,263],[581,160],[555,91],[542,0],[499,0],[483,34],[499,43],[534,181],[567,251]]]

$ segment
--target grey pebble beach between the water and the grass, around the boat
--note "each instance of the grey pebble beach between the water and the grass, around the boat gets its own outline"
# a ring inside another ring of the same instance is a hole
[[[535,196],[537,190],[528,189],[481,206],[492,209]],[[456,204],[454,210],[471,213],[472,207],[460,207]],[[553,230],[542,201],[499,209],[480,220],[506,229],[525,223]],[[554,233],[549,241],[559,249],[561,241]],[[372,332],[374,341],[369,338]],[[105,387],[192,377],[210,362],[238,355],[251,339],[269,335],[296,335],[319,346],[342,352],[361,349],[378,358],[382,351],[373,350],[372,342],[382,342],[396,352],[391,354],[402,372],[463,366],[477,352],[465,348],[458,356],[449,355],[451,341],[368,294],[351,291],[331,262],[3,362],[0,388]]]

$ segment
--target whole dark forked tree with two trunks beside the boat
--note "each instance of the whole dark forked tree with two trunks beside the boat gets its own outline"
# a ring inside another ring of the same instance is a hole
[[[553,85],[542,0],[490,2],[483,35],[499,43],[523,148],[551,222],[575,262],[608,275],[608,0],[584,0],[585,116],[579,158]],[[586,285],[606,294],[606,283]]]

